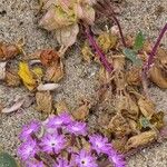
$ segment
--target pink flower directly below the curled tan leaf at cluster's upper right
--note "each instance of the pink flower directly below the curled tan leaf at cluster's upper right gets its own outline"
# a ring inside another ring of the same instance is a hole
[[[87,135],[87,125],[85,122],[79,122],[79,121],[72,121],[67,126],[67,131],[70,134],[73,134],[76,136]]]

